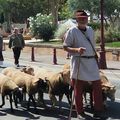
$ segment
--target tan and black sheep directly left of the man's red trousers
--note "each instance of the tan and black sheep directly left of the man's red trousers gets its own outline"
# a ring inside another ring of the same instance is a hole
[[[65,94],[68,100],[68,103],[71,105],[71,99],[70,99],[70,90],[69,90],[69,83],[68,79],[70,76],[70,71],[65,70],[58,73],[55,73],[54,75],[50,77],[46,77],[47,83],[49,85],[49,97],[52,101],[52,107],[56,104],[56,97],[59,96],[59,109],[61,108],[61,101],[62,97]]]

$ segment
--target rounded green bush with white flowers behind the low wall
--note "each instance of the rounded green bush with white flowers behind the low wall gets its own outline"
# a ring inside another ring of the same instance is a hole
[[[30,29],[33,36],[38,36],[44,41],[49,41],[54,34],[54,26],[52,24],[51,15],[41,13],[37,14],[36,17],[29,17]]]

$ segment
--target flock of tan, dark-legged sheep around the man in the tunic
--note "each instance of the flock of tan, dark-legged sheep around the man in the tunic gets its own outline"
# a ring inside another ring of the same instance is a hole
[[[100,71],[100,76],[104,102],[106,102],[107,98],[114,101],[115,86],[109,82],[102,71]],[[89,93],[91,96],[90,105],[93,107],[92,89],[90,89],[91,86],[89,83],[87,86],[87,89],[84,90],[84,99],[86,101],[86,93]],[[14,102],[17,108],[18,103],[26,100],[26,94],[28,95],[28,110],[31,101],[34,109],[37,110],[36,100],[38,103],[42,102],[44,107],[47,107],[44,102],[44,93],[49,94],[52,107],[56,105],[56,96],[59,96],[59,108],[61,109],[64,94],[67,97],[69,105],[71,105],[72,90],[73,88],[70,86],[70,66],[68,64],[64,65],[61,72],[51,72],[37,66],[27,66],[22,69],[7,67],[0,73],[0,92],[2,96],[2,104],[0,107],[2,108],[5,105],[5,96],[9,96],[12,112],[14,111],[12,102]],[[38,95],[37,98],[35,96],[36,93]]]

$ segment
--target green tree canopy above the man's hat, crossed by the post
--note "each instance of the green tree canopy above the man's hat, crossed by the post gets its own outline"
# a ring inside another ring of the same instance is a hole
[[[100,0],[68,0],[67,2],[70,11],[84,9],[90,12],[91,21],[94,14],[100,17]],[[120,17],[120,0],[104,0],[104,16],[114,24]]]

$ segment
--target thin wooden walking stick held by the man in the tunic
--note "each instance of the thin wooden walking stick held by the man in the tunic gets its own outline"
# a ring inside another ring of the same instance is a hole
[[[76,87],[77,81],[78,81],[79,68],[80,68],[80,57],[81,57],[81,56],[79,56],[79,59],[78,59],[77,79],[75,80],[75,85],[74,85],[75,87]],[[71,101],[70,113],[69,113],[68,120],[71,120],[72,107],[73,107],[74,100],[75,100],[75,92],[74,92],[74,90],[73,90],[73,97],[72,97],[72,101]],[[77,113],[77,114],[78,114],[78,113]]]

